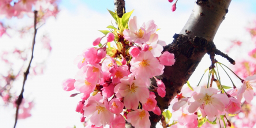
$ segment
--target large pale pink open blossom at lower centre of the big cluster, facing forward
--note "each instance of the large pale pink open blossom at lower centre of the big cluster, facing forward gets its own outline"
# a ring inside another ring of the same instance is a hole
[[[120,79],[120,82],[114,88],[114,93],[117,98],[124,97],[124,106],[127,109],[137,109],[139,102],[142,104],[147,102],[149,98],[147,85],[150,81],[141,78],[134,80],[133,74],[129,74]]]

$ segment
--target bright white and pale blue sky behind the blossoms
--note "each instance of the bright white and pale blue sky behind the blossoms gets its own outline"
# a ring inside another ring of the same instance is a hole
[[[159,38],[169,44],[173,40],[174,33],[179,33],[187,22],[193,10],[194,1],[179,0],[175,12],[170,10],[171,6],[172,3],[167,0],[129,0],[126,2],[126,11],[134,9],[132,16],[137,16],[140,25],[154,19],[157,26],[161,28],[158,31]],[[26,81],[24,95],[33,100],[35,106],[31,110],[32,116],[25,120],[18,120],[16,128],[67,128],[74,125],[77,128],[83,127],[80,123],[80,114],[75,112],[80,96],[69,97],[76,91],[64,91],[61,82],[67,78],[74,78],[78,71],[73,63],[75,57],[82,54],[83,49],[92,46],[95,38],[103,36],[98,30],[106,30],[106,26],[111,25],[111,21],[114,22],[107,8],[114,9],[112,0],[63,0],[60,1],[61,11],[57,18],[49,18],[38,30],[38,41],[40,35],[49,34],[52,40],[52,52],[46,61],[44,75],[30,77]],[[230,40],[240,39],[248,42],[248,50],[250,50],[252,41],[245,28],[255,20],[255,16],[255,0],[233,0],[225,20],[215,35],[214,42],[217,48],[225,50],[230,45]],[[25,22],[25,20],[20,21]],[[17,41],[26,42],[31,39],[31,36],[20,40],[18,37],[9,38],[3,35],[0,42],[8,43],[1,44],[3,47],[0,50],[11,49]],[[35,61],[44,56],[43,53],[36,52],[37,49],[40,48],[35,46]],[[239,53],[238,56],[238,53],[234,52],[231,57],[239,59],[243,54],[245,53]],[[228,64],[227,60],[221,57],[217,56],[217,59]],[[189,82],[197,84],[209,64],[210,59],[206,55]],[[20,88],[17,87],[18,93],[19,90]],[[1,128],[13,127],[14,113],[15,110],[12,107],[0,107]]]

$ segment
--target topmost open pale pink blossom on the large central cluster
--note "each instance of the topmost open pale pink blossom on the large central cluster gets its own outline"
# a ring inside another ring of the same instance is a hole
[[[154,26],[152,22],[145,25],[143,27],[138,27],[137,25],[137,17],[133,16],[132,19],[129,20],[128,22],[128,28],[123,31],[124,38],[127,39],[128,41],[135,42],[135,43],[145,43],[149,40],[151,31],[154,30],[155,28],[151,28],[151,26]],[[148,31],[148,33],[147,33]]]

